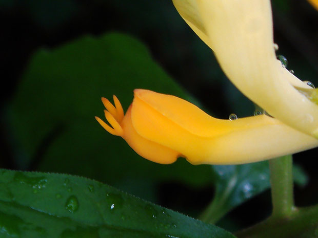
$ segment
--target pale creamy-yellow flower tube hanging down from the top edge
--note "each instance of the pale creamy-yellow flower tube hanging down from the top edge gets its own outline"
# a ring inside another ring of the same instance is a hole
[[[243,94],[273,117],[318,138],[318,106],[297,90],[309,86],[276,59],[270,0],[172,1]]]

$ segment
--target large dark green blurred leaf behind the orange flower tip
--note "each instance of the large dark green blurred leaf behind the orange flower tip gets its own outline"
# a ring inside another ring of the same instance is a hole
[[[85,176],[152,201],[158,182],[211,184],[209,166],[149,162],[95,121],[104,117],[101,96],[115,94],[127,109],[136,88],[192,100],[140,41],[125,34],[85,36],[36,52],[8,111],[20,168]],[[140,183],[149,189],[141,191]]]

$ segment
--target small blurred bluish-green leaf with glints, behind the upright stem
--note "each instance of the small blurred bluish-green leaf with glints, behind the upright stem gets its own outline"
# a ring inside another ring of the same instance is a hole
[[[234,207],[270,188],[268,161],[242,165],[213,165],[215,196],[201,215],[215,223]],[[294,181],[304,186],[307,176],[301,167],[293,166]]]

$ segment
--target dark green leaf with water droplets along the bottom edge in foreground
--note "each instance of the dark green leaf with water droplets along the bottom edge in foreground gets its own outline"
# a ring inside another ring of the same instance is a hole
[[[0,184],[1,237],[234,237],[86,178],[0,169]]]

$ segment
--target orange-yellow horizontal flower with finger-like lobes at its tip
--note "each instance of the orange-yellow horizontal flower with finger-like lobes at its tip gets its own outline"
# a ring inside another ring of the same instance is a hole
[[[192,164],[240,164],[270,159],[318,145],[318,141],[266,115],[216,119],[181,98],[135,90],[124,116],[114,96],[102,98],[105,117],[96,120],[123,137],[142,157],[169,164],[185,157]]]

